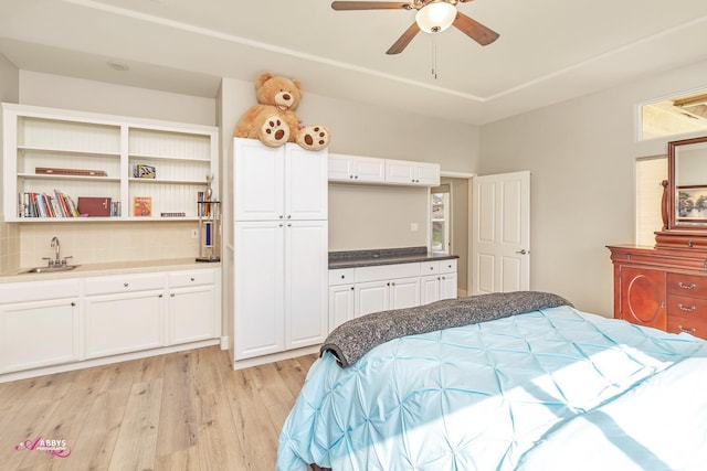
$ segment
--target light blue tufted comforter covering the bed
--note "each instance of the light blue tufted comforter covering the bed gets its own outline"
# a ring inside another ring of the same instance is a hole
[[[312,366],[277,470],[707,469],[707,342],[569,306]]]

